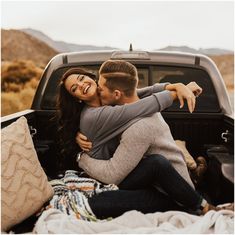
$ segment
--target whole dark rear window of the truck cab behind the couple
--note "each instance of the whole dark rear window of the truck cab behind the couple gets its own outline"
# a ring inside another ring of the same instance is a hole
[[[92,70],[98,75],[99,66],[82,66],[89,70]],[[188,84],[191,81],[197,82],[202,87],[203,93],[197,98],[197,104],[195,112],[220,112],[220,107],[215,94],[215,89],[212,84],[209,74],[198,68],[177,67],[177,66],[158,66],[158,65],[136,65],[139,75],[139,88],[152,85],[154,83],[177,83]],[[42,99],[42,108],[54,110],[56,107],[56,94],[58,92],[58,83],[62,74],[69,69],[59,68],[50,77],[44,97]],[[187,105],[184,108],[179,109],[179,102],[175,101],[173,105],[165,110],[187,112]]]

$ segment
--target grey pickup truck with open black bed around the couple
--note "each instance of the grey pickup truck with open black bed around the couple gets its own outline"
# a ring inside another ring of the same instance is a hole
[[[48,178],[62,177],[66,169],[76,169],[74,161],[63,162],[57,143],[56,93],[61,75],[82,66],[98,72],[108,59],[133,63],[139,73],[139,87],[154,83],[196,81],[203,88],[191,114],[178,101],[162,112],[174,139],[184,140],[194,158],[206,158],[208,169],[197,186],[213,204],[234,201],[234,119],[224,81],[215,63],[205,55],[179,52],[96,51],[58,54],[46,66],[32,107],[2,118],[6,127],[20,116],[28,120],[39,161]]]

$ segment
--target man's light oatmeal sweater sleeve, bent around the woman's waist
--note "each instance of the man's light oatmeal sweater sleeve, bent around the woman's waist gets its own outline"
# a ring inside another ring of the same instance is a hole
[[[118,148],[109,160],[98,160],[83,154],[79,167],[91,177],[106,183],[119,184],[138,165],[153,142],[150,127],[139,120],[123,134]]]

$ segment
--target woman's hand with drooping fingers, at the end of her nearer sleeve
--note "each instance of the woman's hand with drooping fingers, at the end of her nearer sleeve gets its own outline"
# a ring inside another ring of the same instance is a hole
[[[190,86],[192,87],[192,85]],[[185,86],[183,83],[174,83],[166,85],[165,89],[172,92],[173,99],[178,98],[180,102],[180,108],[183,108],[184,99],[186,99],[189,112],[192,113],[194,111],[196,98],[193,92],[187,86]]]

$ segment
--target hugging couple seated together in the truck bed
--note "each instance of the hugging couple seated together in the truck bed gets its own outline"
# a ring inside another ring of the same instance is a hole
[[[104,62],[98,81],[79,67],[61,78],[57,108],[64,152],[78,152],[78,142],[86,150],[77,155],[79,167],[119,187],[88,198],[90,209],[97,218],[128,210],[219,210],[194,189],[183,154],[160,114],[175,99],[180,107],[186,100],[192,113],[202,89],[195,82],[137,85],[136,67],[123,60]]]

